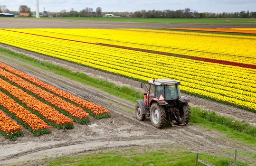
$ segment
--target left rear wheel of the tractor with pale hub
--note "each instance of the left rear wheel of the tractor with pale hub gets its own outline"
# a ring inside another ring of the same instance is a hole
[[[150,120],[154,127],[162,128],[166,124],[166,112],[164,107],[153,103],[150,109]]]

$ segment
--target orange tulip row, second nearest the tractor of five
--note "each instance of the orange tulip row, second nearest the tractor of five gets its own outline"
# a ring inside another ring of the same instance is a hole
[[[71,104],[70,102],[67,102],[64,99],[50,92],[42,90],[38,86],[23,80],[15,74],[11,74],[3,69],[0,69],[0,76],[6,78],[12,83],[17,84],[24,90],[31,92],[31,94],[35,94],[47,103],[57,107],[59,109],[58,111],[62,111],[62,113],[64,113],[67,116],[70,116],[76,122],[85,124],[88,121],[90,121],[89,114],[85,112],[82,108],[77,107],[74,104]]]

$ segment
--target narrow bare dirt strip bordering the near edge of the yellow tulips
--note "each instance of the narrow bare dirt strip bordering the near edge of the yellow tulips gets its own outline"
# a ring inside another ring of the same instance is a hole
[[[118,75],[104,73],[104,72],[101,72],[101,71],[98,71],[98,70],[95,70],[92,68],[88,68],[88,67],[81,66],[81,65],[76,65],[74,63],[70,63],[70,62],[56,59],[53,57],[36,54],[36,53],[22,50],[22,49],[19,49],[16,47],[7,46],[7,45],[3,45],[3,44],[0,44],[0,46],[3,48],[7,48],[9,50],[12,50],[14,52],[17,52],[17,53],[21,53],[21,54],[39,59],[41,61],[49,62],[49,63],[55,64],[55,65],[60,65],[64,68],[67,68],[74,72],[85,73],[91,77],[95,77],[95,78],[99,78],[99,79],[103,79],[103,80],[107,77],[107,80],[109,82],[115,83],[119,86],[127,86],[130,88],[136,89],[139,92],[145,92],[145,89],[140,88],[140,82],[134,81],[132,79],[124,78],[124,77],[121,77]],[[34,69],[34,70],[36,70],[36,69]],[[192,107],[199,107],[199,108],[202,108],[202,109],[205,109],[208,111],[215,111],[219,115],[234,118],[239,121],[245,121],[245,122],[250,123],[251,125],[256,126],[256,113],[254,113],[254,112],[242,110],[242,109],[239,109],[239,108],[236,108],[233,106],[224,105],[224,104],[221,104],[221,103],[218,103],[215,101],[209,101],[207,99],[202,99],[202,98],[191,96],[188,94],[182,94],[182,95],[190,98],[190,100],[191,100],[190,106],[192,106]],[[115,101],[118,102],[118,99],[116,99]],[[127,104],[124,104],[124,105],[127,105]],[[129,104],[127,106],[129,107]]]

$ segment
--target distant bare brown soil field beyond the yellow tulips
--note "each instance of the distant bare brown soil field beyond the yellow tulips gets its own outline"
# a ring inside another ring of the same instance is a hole
[[[159,24],[74,19],[1,18],[0,28],[248,28],[256,23]]]

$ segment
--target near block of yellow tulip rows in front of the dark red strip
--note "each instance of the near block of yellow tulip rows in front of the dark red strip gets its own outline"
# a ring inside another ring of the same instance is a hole
[[[38,32],[39,35],[44,35],[45,33],[38,30],[32,31]],[[123,32],[125,30],[118,31]],[[131,32],[131,30],[126,31]],[[144,33],[142,30],[134,29],[133,31]],[[69,30],[67,30],[67,32],[69,32]],[[53,37],[59,37],[59,34],[54,34],[54,32],[51,33]],[[17,36],[17,34],[19,34],[19,36]],[[147,81],[152,78],[180,80],[182,81],[180,88],[183,92],[196,96],[199,95],[250,111],[256,111],[255,69],[232,65],[220,65],[114,47],[98,46],[50,37],[40,37],[40,42],[38,42],[39,37],[36,35],[10,31],[6,31],[4,34],[0,34],[0,36],[1,35],[3,36],[0,39],[1,42],[6,44],[89,66],[104,72],[118,74],[141,81]],[[61,35],[65,38],[65,34]],[[186,33],[183,35],[186,37],[188,34]],[[95,34],[95,36],[97,36],[97,34]],[[206,37],[208,35],[204,34],[203,36]],[[214,35],[214,37],[217,38],[220,36],[222,35]],[[11,40],[9,40],[10,38]],[[246,38],[253,40],[254,37]],[[83,41],[82,39],[83,37],[81,37],[81,41]],[[237,39],[244,40],[244,37],[237,37]],[[179,51],[179,49],[177,49],[177,51]],[[249,52],[253,53],[252,50],[249,50]],[[253,62],[255,55],[248,55],[249,54],[247,54],[247,57],[244,55],[243,60]],[[228,56],[230,56],[228,57],[229,59],[238,57],[229,53]]]

